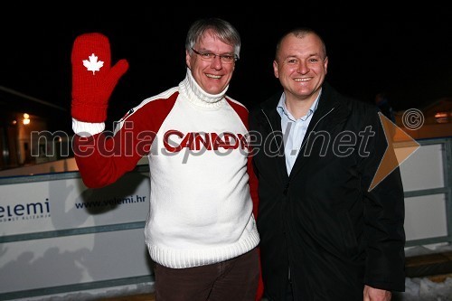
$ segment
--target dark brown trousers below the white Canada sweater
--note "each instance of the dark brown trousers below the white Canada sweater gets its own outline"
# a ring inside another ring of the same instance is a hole
[[[259,283],[258,250],[194,268],[155,264],[156,301],[254,301]]]

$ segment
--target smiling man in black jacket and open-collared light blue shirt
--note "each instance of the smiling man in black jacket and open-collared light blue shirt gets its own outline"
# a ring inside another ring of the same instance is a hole
[[[371,185],[388,147],[378,108],[328,85],[327,66],[317,33],[290,31],[273,61],[284,90],[250,112],[265,296],[389,301],[405,289],[400,170]]]

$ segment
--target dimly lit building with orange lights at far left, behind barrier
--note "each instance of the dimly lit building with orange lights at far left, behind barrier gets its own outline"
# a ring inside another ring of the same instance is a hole
[[[68,110],[0,86],[0,170],[73,156]]]

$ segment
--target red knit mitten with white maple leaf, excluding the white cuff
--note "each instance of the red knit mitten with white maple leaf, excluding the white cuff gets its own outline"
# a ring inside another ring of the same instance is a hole
[[[111,67],[110,44],[101,33],[84,33],[73,44],[72,118],[99,123],[107,119],[108,99],[128,69],[120,60]]]

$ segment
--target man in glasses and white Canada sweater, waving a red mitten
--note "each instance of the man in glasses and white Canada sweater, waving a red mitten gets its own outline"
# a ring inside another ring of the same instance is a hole
[[[100,33],[76,39],[71,113],[77,165],[83,182],[96,188],[114,183],[147,155],[145,237],[157,300],[254,300],[258,200],[248,110],[225,94],[240,35],[224,20],[198,20],[185,49],[185,79],[130,109],[115,135],[106,136],[108,99],[128,63],[110,67],[108,38]]]

